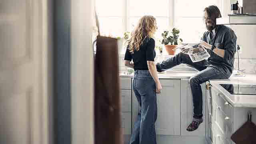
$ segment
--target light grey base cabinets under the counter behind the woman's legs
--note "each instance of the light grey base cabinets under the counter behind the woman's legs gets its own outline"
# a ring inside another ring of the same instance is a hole
[[[188,79],[167,78],[160,79],[160,82],[163,89],[161,94],[157,94],[158,118],[156,121],[156,134],[158,143],[186,144],[187,141],[194,141],[196,144],[205,144],[205,122],[200,125],[198,130],[186,132],[186,127],[190,124],[193,116],[192,95]],[[130,86],[130,88],[128,87],[129,84],[132,84],[132,78],[121,78],[122,95],[126,97],[126,95],[129,94],[125,91],[131,90],[131,127],[133,130],[138,112],[140,111],[140,106],[138,106],[138,101],[132,90],[132,86]],[[205,84],[201,86],[204,98]],[[130,101],[127,100],[126,102]],[[127,105],[122,105],[122,107],[127,107]],[[203,109],[203,112],[205,112],[205,108]],[[127,111],[126,108],[122,108],[122,113],[124,112],[130,111]],[[123,119],[123,121],[129,123],[127,119]],[[126,127],[124,129],[128,130]],[[126,139],[129,138],[127,137]],[[128,140],[126,140],[126,142],[128,142]]]

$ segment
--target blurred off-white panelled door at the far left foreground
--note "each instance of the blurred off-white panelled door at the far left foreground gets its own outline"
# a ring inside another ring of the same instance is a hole
[[[39,0],[0,2],[0,144],[49,143],[41,6]]]

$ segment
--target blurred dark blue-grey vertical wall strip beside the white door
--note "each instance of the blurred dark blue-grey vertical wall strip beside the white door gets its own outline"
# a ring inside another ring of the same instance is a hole
[[[70,0],[54,0],[55,144],[71,144]]]

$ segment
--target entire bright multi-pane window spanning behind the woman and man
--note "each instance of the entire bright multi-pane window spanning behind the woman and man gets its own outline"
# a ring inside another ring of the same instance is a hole
[[[228,0],[96,0],[96,11],[103,35],[122,37],[133,30],[141,16],[152,15],[158,24],[156,38],[176,27],[185,42],[197,42],[206,31],[204,8],[215,4],[223,15],[223,5],[229,5],[225,2]]]

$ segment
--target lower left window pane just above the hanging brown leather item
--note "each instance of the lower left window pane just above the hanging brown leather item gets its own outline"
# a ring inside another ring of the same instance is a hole
[[[120,17],[99,17],[100,34],[103,36],[123,36],[123,22]]]

